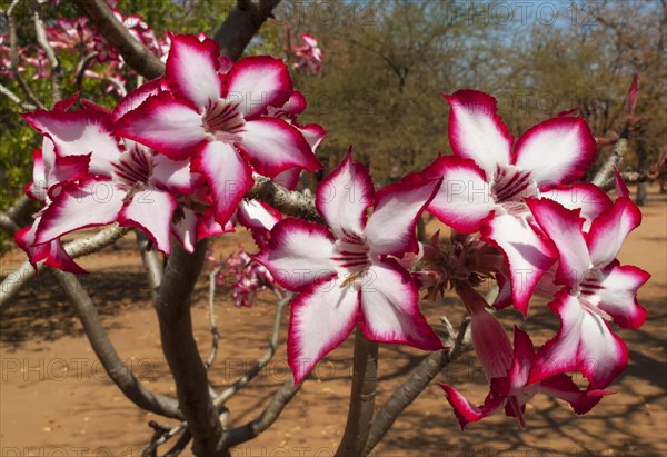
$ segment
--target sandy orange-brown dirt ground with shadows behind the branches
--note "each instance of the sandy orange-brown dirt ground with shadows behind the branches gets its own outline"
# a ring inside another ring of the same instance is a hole
[[[618,330],[630,350],[630,365],[610,386],[616,395],[604,398],[591,413],[576,416],[569,406],[536,397],[528,406],[528,428],[519,430],[505,416],[470,425],[461,433],[442,391],[434,383],[396,421],[376,448],[378,457],[554,457],[554,456],[667,456],[667,197],[650,189],[643,208],[644,223],[631,234],[620,255],[623,264],[637,265],[653,278],[640,290],[648,320],[639,330]],[[429,226],[434,229],[435,226]],[[215,244],[217,254],[239,245],[252,249],[242,229]],[[4,277],[23,261],[21,252],[2,258]],[[175,394],[163,360],[150,291],[133,236],[81,260],[91,275],[82,278],[103,325],[121,358],[149,388]],[[210,267],[207,267],[207,272]],[[195,334],[203,356],[210,332],[207,280],[196,290]],[[211,380],[221,390],[267,348],[273,319],[271,297],[261,296],[252,308],[236,308],[227,294],[217,296],[221,331],[220,352]],[[452,322],[461,305],[451,297],[427,304],[424,312],[438,326],[446,314]],[[509,330],[522,319],[505,314]],[[24,287],[0,310],[0,449],[2,457],[139,456],[149,443],[152,414],[138,409],[108,379],[81,331],[73,308],[50,276]],[[287,315],[282,319],[287,325]],[[558,320],[537,302],[525,324],[541,344],[558,328]],[[381,404],[425,357],[400,346],[380,348],[377,404]],[[232,456],[332,456],[341,437],[348,406],[351,338],[316,368],[282,417],[266,433]],[[231,426],[257,417],[272,393],[287,379],[285,331],[279,349],[265,370],[228,406]],[[474,401],[486,395],[484,376],[467,350],[446,367],[438,380],[460,389]],[[168,420],[162,420],[169,424]],[[166,450],[161,447],[162,451]]]

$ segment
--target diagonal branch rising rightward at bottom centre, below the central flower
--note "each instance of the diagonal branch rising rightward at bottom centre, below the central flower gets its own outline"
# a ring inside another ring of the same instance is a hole
[[[470,318],[466,316],[461,321],[456,339],[454,339],[454,344],[451,344],[449,351],[441,349],[431,352],[421,360],[417,369],[410,375],[410,378],[397,388],[394,394],[391,394],[391,397],[385,401],[372,419],[368,441],[366,443],[362,455],[368,455],[377,444],[380,443],[398,416],[415,401],[438,372],[440,372],[447,364],[456,360],[461,355],[466,335],[468,334],[469,322]]]

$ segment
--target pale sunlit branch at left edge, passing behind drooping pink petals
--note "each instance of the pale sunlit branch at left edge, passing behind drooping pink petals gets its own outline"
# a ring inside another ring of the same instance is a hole
[[[64,245],[64,250],[72,258],[88,256],[89,254],[97,252],[98,250],[113,244],[116,240],[122,238],[129,228],[111,226],[106,229],[86,238],[79,238]],[[48,270],[49,267],[43,261],[37,264],[37,272]],[[3,306],[16,292],[19,291],[21,286],[28,282],[36,275],[36,268],[32,268],[29,261],[21,264],[12,274],[8,275],[7,278],[0,284],[0,306]]]

